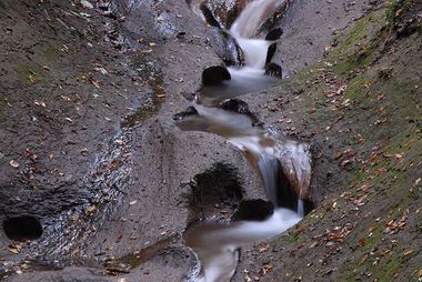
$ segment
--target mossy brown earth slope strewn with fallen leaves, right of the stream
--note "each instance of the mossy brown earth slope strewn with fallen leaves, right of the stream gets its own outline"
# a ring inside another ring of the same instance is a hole
[[[323,61],[248,97],[267,125],[316,144],[319,207],[242,252],[234,281],[421,278],[421,11],[420,1],[372,11]]]

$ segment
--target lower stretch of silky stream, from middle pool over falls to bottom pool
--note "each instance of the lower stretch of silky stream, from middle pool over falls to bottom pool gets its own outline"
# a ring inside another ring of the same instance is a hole
[[[179,123],[183,130],[219,134],[249,155],[259,170],[268,199],[277,207],[279,174],[284,165],[289,179],[307,184],[311,173],[311,157],[307,145],[284,137],[277,140],[252,127],[249,117],[219,108],[195,104],[198,115]],[[282,233],[304,215],[303,202],[298,210],[278,208],[265,221],[241,221],[230,224],[200,223],[187,234],[187,244],[201,262],[202,272],[194,281],[230,281],[238,263],[239,248]]]

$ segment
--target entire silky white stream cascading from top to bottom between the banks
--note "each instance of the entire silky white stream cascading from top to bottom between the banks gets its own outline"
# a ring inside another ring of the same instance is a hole
[[[198,114],[178,121],[181,130],[221,135],[241,150],[261,177],[268,199],[275,207],[272,215],[263,221],[193,224],[184,234],[188,246],[200,262],[193,281],[230,281],[241,246],[280,234],[304,215],[301,199],[308,192],[311,178],[308,144],[268,134],[253,127],[251,118],[245,114],[204,105],[210,104],[204,101],[215,104],[215,101],[221,102],[274,84],[274,78],[264,75],[268,48],[274,41],[252,37],[262,21],[282,2],[255,0],[245,7],[230,30],[245,54],[245,66],[229,68],[231,80],[221,85],[208,87],[193,104]]]

